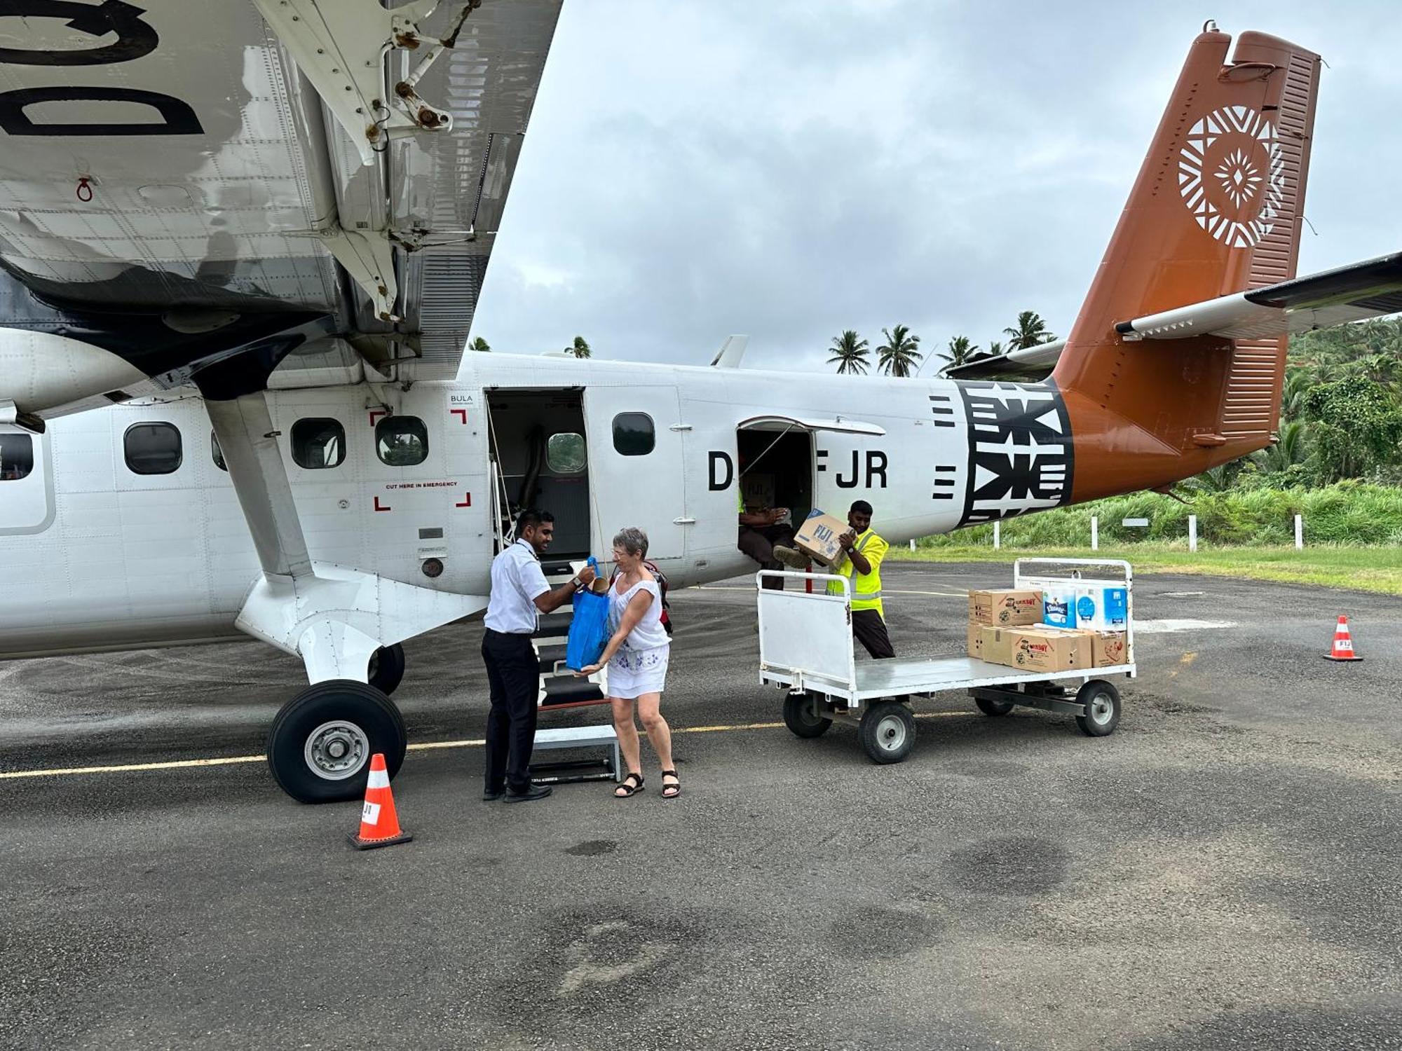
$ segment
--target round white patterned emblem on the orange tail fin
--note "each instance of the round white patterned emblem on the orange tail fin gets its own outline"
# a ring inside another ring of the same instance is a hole
[[[1230,248],[1252,248],[1276,226],[1286,161],[1276,128],[1249,107],[1223,107],[1187,132],[1178,189],[1197,226]]]

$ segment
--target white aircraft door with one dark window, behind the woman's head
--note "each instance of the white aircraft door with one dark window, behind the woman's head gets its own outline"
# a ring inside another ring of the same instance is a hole
[[[648,558],[683,558],[687,530],[695,517],[687,509],[680,404],[674,387],[589,387],[585,426],[593,493],[590,513],[599,558],[610,558],[610,541],[624,526],[648,534]]]

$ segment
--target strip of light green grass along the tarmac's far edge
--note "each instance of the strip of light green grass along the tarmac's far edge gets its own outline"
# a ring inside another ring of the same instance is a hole
[[[1136,573],[1202,573],[1206,576],[1280,580],[1291,584],[1350,587],[1402,596],[1402,547],[1206,548],[1190,552],[1168,544],[1085,548],[1022,548],[994,551],[988,544],[937,548],[893,547],[887,558],[903,562],[1012,562],[1016,558],[1122,558]]]

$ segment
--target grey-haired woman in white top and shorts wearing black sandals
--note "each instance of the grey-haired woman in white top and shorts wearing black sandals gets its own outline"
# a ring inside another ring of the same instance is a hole
[[[628,776],[614,795],[627,799],[642,792],[642,746],[634,723],[637,712],[662,762],[662,797],[676,799],[681,793],[681,779],[672,768],[672,730],[659,710],[672,639],[662,626],[662,590],[642,565],[648,555],[648,534],[629,526],[614,537],[613,555],[618,572],[608,589],[608,624],[614,632],[599,663],[579,674],[590,675],[608,666],[608,702],[614,710],[618,748],[628,764]]]

